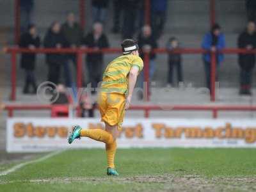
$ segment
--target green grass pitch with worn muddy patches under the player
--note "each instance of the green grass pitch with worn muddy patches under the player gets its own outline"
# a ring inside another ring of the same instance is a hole
[[[9,175],[0,176],[0,189],[175,191],[192,190],[189,184],[193,181],[199,182],[199,188],[201,182],[207,182],[213,184],[216,190],[256,190],[253,187],[256,182],[255,149],[119,149],[116,154],[116,168],[120,177],[106,175],[106,154],[103,149],[68,150],[40,163],[28,164]],[[45,179],[44,182],[42,179]]]

